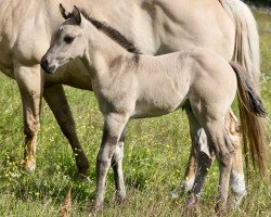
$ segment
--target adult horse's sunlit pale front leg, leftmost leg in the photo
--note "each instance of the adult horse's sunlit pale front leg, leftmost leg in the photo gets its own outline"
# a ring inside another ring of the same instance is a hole
[[[43,90],[43,72],[39,65],[31,67],[14,64],[14,75],[18,85],[24,116],[25,169],[36,167],[36,143],[40,127],[40,105]]]

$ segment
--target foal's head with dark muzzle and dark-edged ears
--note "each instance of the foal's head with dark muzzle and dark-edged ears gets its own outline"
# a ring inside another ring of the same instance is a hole
[[[83,21],[79,10],[74,7],[73,12],[68,13],[62,4],[60,4],[60,10],[66,21],[60,26],[53,43],[40,63],[42,69],[50,74],[68,61],[81,58],[86,49]]]

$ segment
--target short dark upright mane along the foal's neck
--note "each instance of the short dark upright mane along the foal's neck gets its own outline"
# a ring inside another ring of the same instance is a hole
[[[117,29],[108,26],[105,22],[96,21],[90,17],[86,11],[80,10],[81,14],[93,25],[98,30],[103,31],[106,36],[116,41],[119,46],[125,48],[128,52],[134,53],[137,55],[141,54],[140,50],[128,40],[122,34],[120,34]]]

